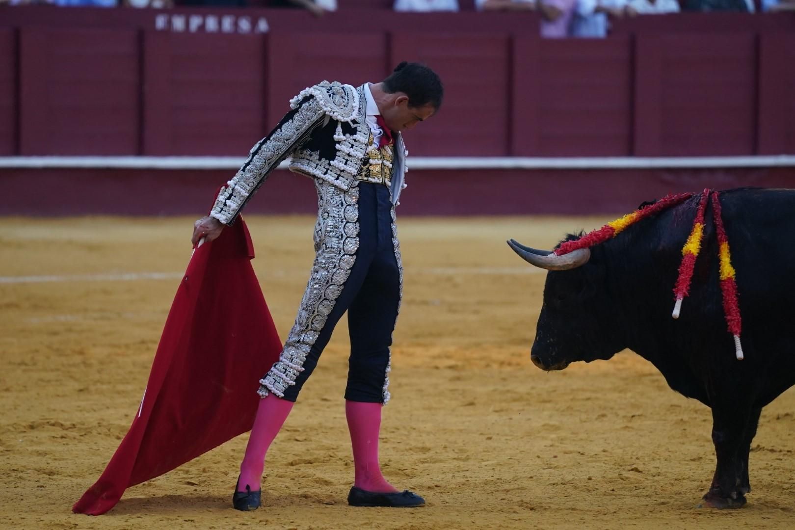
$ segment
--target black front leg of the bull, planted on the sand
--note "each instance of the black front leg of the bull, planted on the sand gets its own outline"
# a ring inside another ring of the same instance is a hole
[[[747,443],[747,425],[752,413],[747,408],[712,405],[712,443],[717,466],[712,487],[704,495],[704,505],[711,508],[741,508],[746,498],[740,490]]]

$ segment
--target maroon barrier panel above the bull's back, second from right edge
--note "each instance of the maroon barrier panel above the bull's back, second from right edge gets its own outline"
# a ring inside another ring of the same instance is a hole
[[[755,47],[752,33],[639,35],[634,154],[755,153]]]

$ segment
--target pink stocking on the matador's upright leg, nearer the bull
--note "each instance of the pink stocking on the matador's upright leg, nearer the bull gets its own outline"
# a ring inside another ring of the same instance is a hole
[[[378,432],[381,431],[380,403],[345,401],[345,416],[351,431],[355,469],[354,486],[365,491],[394,493],[381,474],[378,463]]]

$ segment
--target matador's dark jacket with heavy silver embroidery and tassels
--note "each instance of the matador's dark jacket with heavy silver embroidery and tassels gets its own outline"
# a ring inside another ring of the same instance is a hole
[[[347,191],[366,160],[370,127],[365,122],[362,87],[324,81],[290,100],[281,122],[251,149],[246,163],[221,188],[210,213],[226,225],[235,222],[268,174],[292,156],[290,171],[321,179]],[[394,135],[390,192],[397,205],[405,188],[405,149],[400,133]]]

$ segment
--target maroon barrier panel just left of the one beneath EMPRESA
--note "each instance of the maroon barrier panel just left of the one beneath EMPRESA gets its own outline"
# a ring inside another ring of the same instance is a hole
[[[131,29],[21,29],[20,153],[138,154],[139,57]]]

